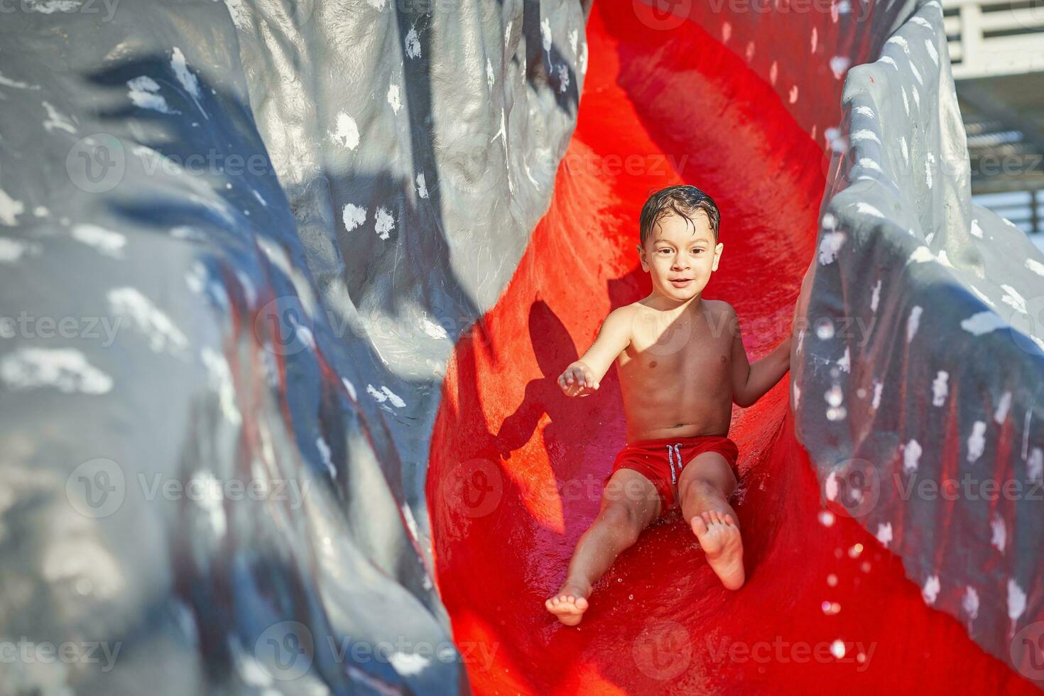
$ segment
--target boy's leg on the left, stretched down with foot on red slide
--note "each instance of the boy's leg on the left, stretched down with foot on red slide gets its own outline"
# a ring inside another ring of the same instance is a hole
[[[566,581],[544,605],[567,626],[575,626],[587,610],[591,589],[621,551],[633,545],[660,514],[660,495],[636,471],[613,474],[601,495],[601,509],[573,551]]]

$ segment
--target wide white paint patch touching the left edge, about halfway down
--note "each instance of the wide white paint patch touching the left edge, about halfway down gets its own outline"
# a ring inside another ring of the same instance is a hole
[[[0,380],[14,390],[54,387],[66,393],[108,393],[113,378],[73,349],[25,347],[0,358]]]

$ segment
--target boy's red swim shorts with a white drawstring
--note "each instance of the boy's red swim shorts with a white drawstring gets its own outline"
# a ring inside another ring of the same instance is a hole
[[[725,457],[736,480],[739,480],[739,469],[736,466],[739,449],[736,443],[721,435],[696,435],[628,442],[616,455],[613,471],[602,481],[602,487],[617,471],[634,470],[656,486],[662,503],[660,506],[662,517],[677,504],[678,480],[682,470],[692,461],[693,457],[704,452],[717,452]]]

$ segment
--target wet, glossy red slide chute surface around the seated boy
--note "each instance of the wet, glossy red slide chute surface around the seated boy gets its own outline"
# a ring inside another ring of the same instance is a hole
[[[825,184],[822,148],[768,83],[698,27],[654,31],[624,4],[592,10],[550,209],[443,387],[427,498],[473,691],[869,693],[908,691],[916,671],[932,693],[1036,693],[927,607],[898,557],[825,511],[788,378],[733,415],[741,591],[720,586],[675,513],[620,556],[578,627],[544,610],[624,443],[615,368],[584,400],[555,378],[612,308],[648,292],[635,251],[645,197],[689,183],[718,203],[725,250],[706,296],[736,308],[755,360],[789,328]]]

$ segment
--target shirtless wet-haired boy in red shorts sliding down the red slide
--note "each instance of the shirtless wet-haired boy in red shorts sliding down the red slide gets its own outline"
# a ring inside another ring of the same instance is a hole
[[[587,397],[615,360],[627,438],[566,581],[545,602],[567,626],[579,623],[592,586],[617,555],[679,505],[722,584],[743,584],[739,518],[729,505],[738,479],[738,451],[728,437],[732,404],[748,407],[782,379],[790,336],[751,365],[736,311],[701,296],[725,246],[719,219],[710,196],[692,186],[649,196],[638,256],[652,292],[613,310],[588,352],[559,377],[567,395]]]

